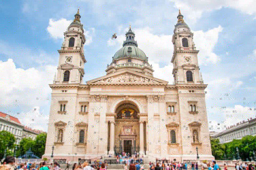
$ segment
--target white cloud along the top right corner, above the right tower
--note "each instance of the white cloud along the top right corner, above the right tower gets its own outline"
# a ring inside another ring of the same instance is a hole
[[[254,15],[256,13],[256,3],[253,0],[170,0],[174,6],[182,10],[189,19],[201,18],[204,12],[214,11],[221,8],[233,8],[243,13]]]

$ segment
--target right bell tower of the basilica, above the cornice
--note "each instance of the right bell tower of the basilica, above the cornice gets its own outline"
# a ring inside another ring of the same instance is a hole
[[[202,74],[199,74],[198,50],[193,42],[193,33],[184,22],[179,10],[178,22],[174,28],[172,42],[174,53],[173,63],[174,84],[203,84]]]

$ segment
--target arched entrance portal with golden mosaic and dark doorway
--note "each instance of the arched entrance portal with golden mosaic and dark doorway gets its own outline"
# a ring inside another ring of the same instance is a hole
[[[139,109],[132,102],[122,102],[115,110],[115,152],[139,151]]]

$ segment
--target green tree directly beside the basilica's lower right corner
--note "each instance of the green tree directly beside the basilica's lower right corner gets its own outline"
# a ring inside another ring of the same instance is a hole
[[[211,139],[211,152],[215,159],[223,159],[225,153],[225,145],[219,142],[219,139]]]

